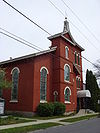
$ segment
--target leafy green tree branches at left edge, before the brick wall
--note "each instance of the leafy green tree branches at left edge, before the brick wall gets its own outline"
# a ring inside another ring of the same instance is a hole
[[[5,69],[0,68],[0,90],[10,88],[11,81],[6,79]]]

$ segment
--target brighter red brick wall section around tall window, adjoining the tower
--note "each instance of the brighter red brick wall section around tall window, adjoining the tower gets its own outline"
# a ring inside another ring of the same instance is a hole
[[[40,69],[46,67],[47,74],[47,99],[52,101],[52,54],[38,56],[34,59],[34,85],[33,85],[33,111],[36,111],[40,103]]]

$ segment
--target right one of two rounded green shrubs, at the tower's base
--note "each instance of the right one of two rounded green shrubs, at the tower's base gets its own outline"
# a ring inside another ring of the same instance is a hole
[[[54,104],[54,115],[63,115],[66,110],[66,106],[63,103],[55,102]]]

